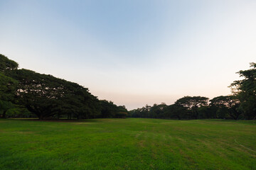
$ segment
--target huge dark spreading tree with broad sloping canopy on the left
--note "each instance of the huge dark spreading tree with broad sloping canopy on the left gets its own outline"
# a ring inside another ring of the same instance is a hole
[[[97,98],[78,84],[28,69],[16,70],[14,78],[18,80],[18,100],[40,119],[61,114],[89,118],[100,113]]]

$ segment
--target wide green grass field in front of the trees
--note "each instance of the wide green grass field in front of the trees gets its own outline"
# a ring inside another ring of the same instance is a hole
[[[0,120],[0,169],[256,169],[256,121]]]

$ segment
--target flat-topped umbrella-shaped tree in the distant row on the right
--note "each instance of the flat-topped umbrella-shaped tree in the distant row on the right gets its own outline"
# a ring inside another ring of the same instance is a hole
[[[175,104],[178,106],[183,106],[184,108],[190,111],[190,118],[197,119],[198,118],[198,108],[201,106],[208,106],[208,99],[206,97],[201,96],[185,96],[183,98],[179,98]]]

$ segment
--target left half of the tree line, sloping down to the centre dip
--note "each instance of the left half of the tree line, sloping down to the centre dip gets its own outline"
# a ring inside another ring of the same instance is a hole
[[[125,118],[125,106],[99,100],[79,84],[18,69],[18,63],[0,54],[1,118]]]

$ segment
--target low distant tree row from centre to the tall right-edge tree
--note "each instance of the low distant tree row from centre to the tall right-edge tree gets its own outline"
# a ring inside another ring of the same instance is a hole
[[[167,106],[165,103],[154,106],[146,105],[143,108],[129,111],[132,118],[167,118],[178,120],[189,119],[241,119],[242,112],[239,109],[239,101],[235,96],[218,96],[210,100],[201,96],[185,96],[174,104]]]

